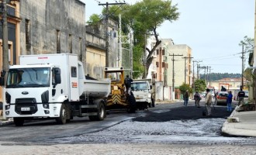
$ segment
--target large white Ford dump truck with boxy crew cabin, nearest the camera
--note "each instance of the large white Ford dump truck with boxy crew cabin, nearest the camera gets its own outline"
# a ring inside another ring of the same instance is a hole
[[[4,74],[0,80],[3,84]],[[19,65],[9,67],[4,116],[16,126],[26,119],[56,119],[58,124],[73,116],[103,120],[109,93],[110,80],[85,76],[75,54],[23,55]]]

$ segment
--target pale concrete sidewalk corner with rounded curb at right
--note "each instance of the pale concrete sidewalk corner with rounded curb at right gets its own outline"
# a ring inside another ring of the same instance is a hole
[[[221,129],[223,135],[256,136],[256,111],[237,112],[236,109],[237,107],[223,123]],[[231,119],[235,122],[230,121]]]

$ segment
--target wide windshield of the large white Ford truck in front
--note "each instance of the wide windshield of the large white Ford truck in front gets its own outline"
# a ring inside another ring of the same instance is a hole
[[[16,68],[10,69],[6,88],[49,87],[50,68]]]

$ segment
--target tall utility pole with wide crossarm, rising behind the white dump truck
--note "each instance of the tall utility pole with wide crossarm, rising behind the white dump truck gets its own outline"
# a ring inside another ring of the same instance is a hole
[[[106,67],[109,67],[109,5],[124,5],[126,3],[99,3],[99,5],[106,5],[106,17],[105,17],[105,31],[106,31]]]

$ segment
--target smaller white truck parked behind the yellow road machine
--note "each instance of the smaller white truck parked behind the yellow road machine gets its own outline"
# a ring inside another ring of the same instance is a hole
[[[136,99],[137,107],[154,107],[154,90],[150,84],[151,79],[133,80],[131,89]]]

